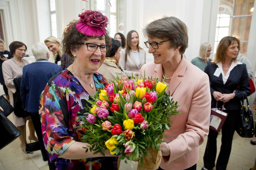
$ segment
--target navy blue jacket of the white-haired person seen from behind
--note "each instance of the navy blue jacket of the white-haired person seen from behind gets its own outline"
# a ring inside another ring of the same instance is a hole
[[[39,60],[23,67],[20,94],[23,109],[27,112],[38,112],[41,92],[49,79],[62,71],[60,65],[47,60]]]

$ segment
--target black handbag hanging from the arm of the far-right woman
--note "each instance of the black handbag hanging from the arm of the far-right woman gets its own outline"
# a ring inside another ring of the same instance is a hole
[[[244,92],[245,93],[245,92]],[[248,108],[246,109],[244,100],[246,99]],[[253,124],[253,117],[252,111],[248,103],[248,98],[246,93],[243,96],[243,100],[241,101],[241,112],[239,115],[239,122],[237,123],[237,134],[241,137],[253,137],[254,135],[254,124]]]

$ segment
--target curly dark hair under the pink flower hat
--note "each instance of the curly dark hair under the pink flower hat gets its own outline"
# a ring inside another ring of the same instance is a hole
[[[74,60],[74,56],[71,53],[72,50],[79,49],[82,45],[79,45],[77,43],[83,42],[87,40],[88,38],[99,38],[100,40],[105,39],[105,43],[108,45],[111,45],[111,38],[109,37],[109,32],[106,31],[106,33],[103,36],[87,36],[83,33],[80,33],[75,25],[79,20],[73,20],[70,22],[66,28],[64,29],[63,33],[63,39],[61,41],[63,52],[68,54],[72,60]]]

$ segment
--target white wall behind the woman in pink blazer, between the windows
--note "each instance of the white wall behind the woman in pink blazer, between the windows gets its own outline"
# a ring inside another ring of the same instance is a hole
[[[212,44],[214,44],[215,29],[211,27],[216,25],[218,0],[127,0],[126,6],[126,24],[124,24],[126,33],[135,29],[139,33],[139,45],[146,51],[148,49],[143,42],[147,39],[142,34],[143,28],[148,23],[165,16],[177,17],[187,25],[188,49],[185,55],[188,61],[198,55],[201,43],[213,40]],[[203,24],[206,21],[207,23]],[[147,54],[147,62],[150,61],[153,61],[153,57]]]

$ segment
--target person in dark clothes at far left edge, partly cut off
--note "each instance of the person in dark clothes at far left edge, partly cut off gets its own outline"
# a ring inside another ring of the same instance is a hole
[[[0,84],[3,85],[4,88],[4,93],[6,95],[6,99],[10,102],[10,98],[8,95],[8,88],[4,84],[4,76],[3,76],[3,71],[2,71],[2,64],[4,61],[12,58],[12,55],[10,51],[5,50],[5,43],[4,40],[0,39]]]

